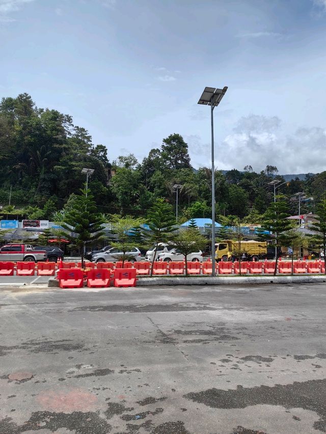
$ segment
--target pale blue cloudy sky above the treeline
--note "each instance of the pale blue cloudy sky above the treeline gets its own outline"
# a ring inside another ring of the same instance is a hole
[[[179,133],[195,168],[326,169],[326,0],[0,0],[0,97],[73,116],[110,161]]]

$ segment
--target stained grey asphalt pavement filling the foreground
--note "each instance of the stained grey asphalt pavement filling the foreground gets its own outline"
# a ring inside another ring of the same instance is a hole
[[[326,432],[325,284],[0,289],[0,433]]]

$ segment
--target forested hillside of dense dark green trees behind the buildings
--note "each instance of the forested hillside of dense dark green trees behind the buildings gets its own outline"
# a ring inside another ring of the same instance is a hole
[[[95,170],[89,187],[103,213],[144,215],[157,197],[175,205],[173,186],[178,184],[180,221],[210,216],[210,169],[192,168],[187,144],[180,134],[172,133],[163,139],[161,147],[151,149],[143,161],[132,153],[110,161],[110,147],[108,153],[105,145],[92,142],[85,128],[74,125],[70,115],[38,108],[28,94],[3,98],[0,103],[3,212],[52,219],[53,213],[83,185],[85,175],[80,172],[87,167]],[[237,215],[255,223],[253,220],[259,220],[257,215],[273,199],[268,182],[282,177],[275,166],[255,173],[250,161],[246,163],[241,172],[216,171],[216,215]],[[297,178],[280,188],[280,193],[288,196],[292,213],[297,213],[297,202],[290,199],[291,195],[305,192],[318,201],[324,198],[325,191],[326,172],[307,174],[304,180]],[[313,211],[313,207],[314,201],[307,201],[302,212]]]

